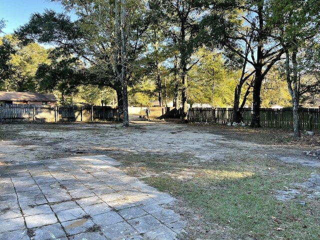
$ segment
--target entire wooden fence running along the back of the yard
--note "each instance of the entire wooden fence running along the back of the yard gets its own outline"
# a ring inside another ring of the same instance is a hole
[[[129,115],[150,118],[180,118],[181,109],[174,107],[128,107]],[[96,121],[116,119],[118,110],[111,106],[50,106],[28,104],[0,104],[0,122],[57,122],[57,121]],[[242,122],[249,125],[252,118],[250,108],[241,112]],[[189,108],[188,119],[195,122],[232,123],[232,108]],[[302,130],[320,130],[320,109],[299,109]],[[292,110],[260,109],[260,124],[264,127],[293,128]]]

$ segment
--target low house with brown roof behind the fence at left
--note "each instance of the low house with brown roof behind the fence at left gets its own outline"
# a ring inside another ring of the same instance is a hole
[[[53,94],[36,92],[0,91],[0,102],[11,104],[55,105]]]

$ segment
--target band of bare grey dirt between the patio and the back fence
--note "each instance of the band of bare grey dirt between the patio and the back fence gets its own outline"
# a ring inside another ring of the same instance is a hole
[[[302,131],[302,137],[294,139],[292,130],[178,122],[131,121],[129,127],[114,122],[0,124],[0,165],[76,155],[107,155],[125,163],[125,159],[143,154],[187,157],[189,167],[180,172],[181,178],[188,177],[198,164],[226,157],[236,161],[239,155],[320,167],[317,132],[307,136]],[[129,172],[134,167],[124,164],[122,169]],[[137,172],[136,176],[146,174]],[[190,222],[197,220],[192,214],[185,215]]]

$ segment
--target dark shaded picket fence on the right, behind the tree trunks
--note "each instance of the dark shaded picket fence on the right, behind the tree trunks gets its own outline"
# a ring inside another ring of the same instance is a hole
[[[225,124],[233,120],[232,108],[190,108],[189,120],[196,122],[214,122]],[[242,122],[249,125],[252,110],[244,108],[241,112]],[[301,130],[320,130],[320,109],[300,108],[299,121]],[[260,124],[263,127],[293,128],[292,109],[260,109]]]

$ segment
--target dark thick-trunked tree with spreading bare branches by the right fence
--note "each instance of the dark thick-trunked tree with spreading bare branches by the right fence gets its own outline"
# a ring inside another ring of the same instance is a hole
[[[238,1],[237,5],[225,14],[212,14],[205,19],[207,25],[211,22],[211,37],[216,38],[221,45],[242,58],[242,78],[235,89],[234,111],[238,111],[239,100],[246,78],[253,77],[252,84],[252,119],[251,127],[260,126],[259,109],[261,104],[260,90],[262,81],[271,67],[280,60],[284,50],[270,34],[271,26],[266,24],[267,0]],[[252,67],[244,67],[249,64]],[[251,71],[251,72],[249,72]],[[243,105],[243,102],[242,104]],[[238,120],[238,119],[237,119]]]

